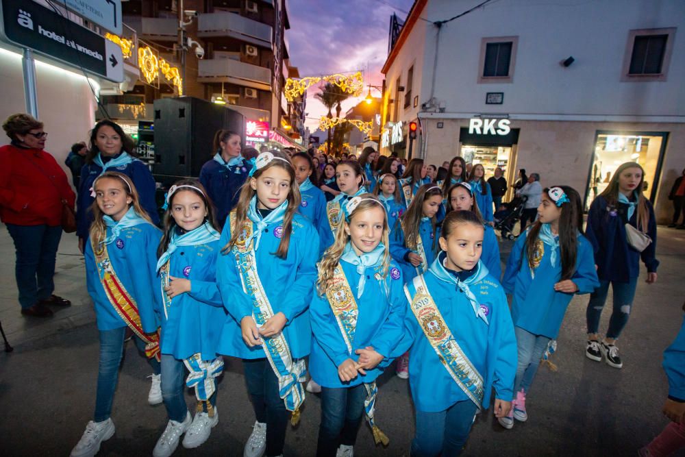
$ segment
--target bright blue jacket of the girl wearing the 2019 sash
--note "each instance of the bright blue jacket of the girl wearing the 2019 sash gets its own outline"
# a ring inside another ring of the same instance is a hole
[[[475,273],[464,282],[486,314],[486,322],[475,314],[471,301],[456,284],[444,279],[446,275],[453,274],[443,267],[445,256],[444,252],[440,253],[429,271],[423,274],[428,291],[445,319],[445,325],[484,379],[483,408],[490,406],[493,387],[495,398],[510,402],[514,395],[517,351],[506,295],[499,282],[479,262]],[[469,400],[440,362],[416,321],[410,302],[407,303],[405,334],[393,355],[399,356],[411,347],[409,384],[416,410],[439,412],[457,402]]]

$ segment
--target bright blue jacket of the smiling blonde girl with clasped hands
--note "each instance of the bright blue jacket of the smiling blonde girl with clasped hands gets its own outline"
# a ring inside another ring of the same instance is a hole
[[[402,290],[404,282],[397,264],[390,263],[387,276],[382,280],[375,279],[375,274],[379,273],[382,267],[367,268],[364,271],[366,283],[361,298],[357,298],[360,275],[357,273],[356,266],[345,260],[340,260],[340,266],[343,267],[352,295],[357,301],[359,313],[351,354],[347,351],[342,331],[326,295],[319,297],[319,294],[314,291],[314,299],[310,306],[313,337],[309,370],[314,381],[321,386],[331,388],[373,382],[383,373],[383,369],[393,361],[390,354],[403,336],[406,312],[406,299]],[[366,375],[360,373],[350,382],[340,381],[338,365],[348,358],[357,360],[359,356],[354,351],[367,346],[373,346],[378,354],[385,357],[384,360],[374,369],[366,370]]]

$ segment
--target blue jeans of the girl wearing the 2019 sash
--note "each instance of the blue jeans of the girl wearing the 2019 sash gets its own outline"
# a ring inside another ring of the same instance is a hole
[[[416,411],[412,457],[458,456],[469,438],[475,403],[463,400],[440,412]],[[442,454],[441,454],[442,453]]]

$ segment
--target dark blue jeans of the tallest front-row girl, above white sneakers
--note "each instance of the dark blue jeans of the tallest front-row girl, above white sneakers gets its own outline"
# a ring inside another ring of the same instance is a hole
[[[266,358],[243,359],[242,367],[257,421],[266,423],[266,456],[279,456],[286,442],[288,410],[279,395],[276,373]]]

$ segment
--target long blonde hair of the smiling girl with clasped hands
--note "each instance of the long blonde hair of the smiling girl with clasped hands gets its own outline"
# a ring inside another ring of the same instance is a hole
[[[359,206],[357,206],[353,212],[351,212],[349,215],[350,221],[354,219],[354,217],[360,212],[369,210],[371,208],[377,208],[378,206],[380,206],[380,208],[383,210],[383,214],[385,215],[383,222],[383,236],[381,238],[381,243],[383,243],[385,246],[381,276],[383,279],[385,279],[386,275],[388,275],[388,268],[390,267],[390,230],[388,228],[388,214],[386,214],[383,203],[375,196],[369,193],[364,193],[359,195],[359,197],[364,200],[359,203]],[[333,245],[326,249],[325,253],[323,253],[321,262],[319,262],[319,278],[316,280],[316,291],[319,293],[319,296],[325,295],[325,293],[328,291],[328,288],[332,286],[334,275],[333,271],[338,265],[338,262],[340,262],[340,257],[343,256],[345,246],[347,246],[347,243],[349,243],[350,236],[345,230],[347,227],[349,227],[349,223],[347,223],[347,220],[343,218],[343,222],[340,224],[340,227],[338,227],[338,232],[336,232],[336,239],[334,240]]]

